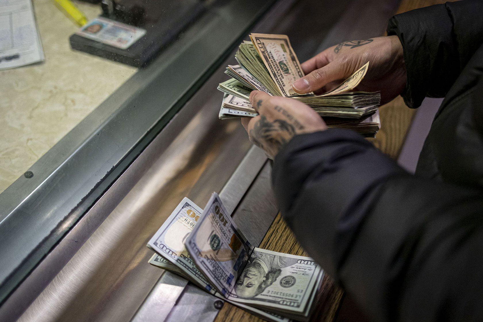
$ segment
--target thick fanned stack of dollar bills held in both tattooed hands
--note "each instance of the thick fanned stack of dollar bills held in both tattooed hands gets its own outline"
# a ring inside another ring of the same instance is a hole
[[[364,136],[375,136],[381,127],[380,92],[352,91],[364,78],[369,62],[328,93],[299,95],[292,84],[304,73],[288,37],[252,33],[250,39],[251,42],[241,43],[235,55],[238,65],[228,65],[225,71],[232,78],[218,85],[225,93],[220,119],[258,115],[248,99],[251,91],[259,90],[309,105],[324,119],[329,117],[328,127],[353,129]]]

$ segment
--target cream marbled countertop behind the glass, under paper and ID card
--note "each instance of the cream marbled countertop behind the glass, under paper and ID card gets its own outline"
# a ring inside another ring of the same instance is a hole
[[[74,51],[78,27],[53,0],[33,0],[45,61],[0,71],[0,193],[137,68]],[[100,6],[74,1],[88,19]]]

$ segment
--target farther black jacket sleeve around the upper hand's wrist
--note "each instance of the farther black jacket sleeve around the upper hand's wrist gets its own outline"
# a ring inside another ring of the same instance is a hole
[[[483,1],[447,2],[398,14],[388,35],[404,49],[408,81],[402,97],[419,107],[426,96],[444,97],[483,43]]]

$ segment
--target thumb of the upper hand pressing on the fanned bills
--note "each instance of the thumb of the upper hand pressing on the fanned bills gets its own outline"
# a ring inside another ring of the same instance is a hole
[[[329,63],[298,79],[292,86],[298,94],[306,94],[316,91],[330,82],[344,78],[345,74],[346,68],[343,68],[341,64]]]

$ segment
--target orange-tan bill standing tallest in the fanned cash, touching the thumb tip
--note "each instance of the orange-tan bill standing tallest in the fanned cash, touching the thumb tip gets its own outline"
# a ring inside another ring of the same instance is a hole
[[[304,73],[288,37],[252,33],[250,39],[282,96],[298,96],[292,84],[303,77]]]

